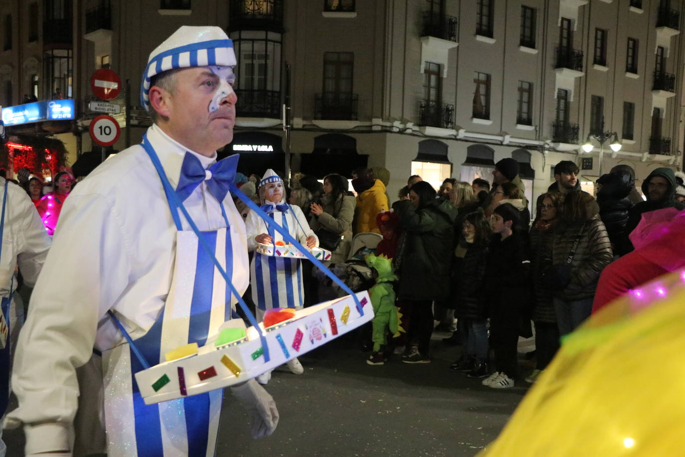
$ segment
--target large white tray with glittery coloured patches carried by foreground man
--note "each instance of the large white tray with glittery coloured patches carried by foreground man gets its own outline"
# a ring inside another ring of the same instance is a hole
[[[301,356],[373,319],[369,294],[357,293],[360,315],[351,295],[297,310],[292,319],[263,331],[269,347],[264,361],[262,341],[242,319],[221,325],[202,347],[186,345],[166,354],[166,362],[136,373],[145,404],[166,402],[245,382]],[[260,327],[262,323],[260,323]],[[233,339],[238,336],[237,339]],[[170,360],[173,359],[173,360]]]

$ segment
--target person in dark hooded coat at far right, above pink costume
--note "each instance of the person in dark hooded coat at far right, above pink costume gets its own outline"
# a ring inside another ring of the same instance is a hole
[[[643,181],[642,185],[642,190],[647,200],[641,201],[630,208],[628,221],[625,223],[625,234],[630,235],[630,232],[635,230],[645,212],[661,210],[663,208],[684,210],[685,203],[675,198],[676,188],[677,182],[673,170],[660,167],[649,173],[649,176]],[[632,250],[631,244],[628,251]]]

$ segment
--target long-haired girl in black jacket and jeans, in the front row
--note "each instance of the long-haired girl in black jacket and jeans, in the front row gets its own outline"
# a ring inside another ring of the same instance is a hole
[[[488,328],[483,284],[485,280],[488,245],[493,230],[482,211],[464,217],[462,235],[454,250],[453,303],[462,339],[462,356],[449,368],[468,373],[469,378],[488,375]]]

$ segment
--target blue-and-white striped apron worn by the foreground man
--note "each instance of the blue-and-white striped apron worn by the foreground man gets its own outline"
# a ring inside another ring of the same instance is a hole
[[[160,180],[168,182],[153,147],[147,141],[142,145]],[[177,208],[169,197],[167,201],[178,230],[171,288],[158,319],[144,336],[134,340],[150,365],[164,362],[164,354],[181,345],[204,345],[207,336],[232,317],[232,295],[225,280],[199,245],[197,235],[182,230]],[[231,277],[232,238],[237,234],[232,232],[223,203],[221,210],[227,228],[202,234]],[[103,351],[108,454],[214,456],[223,389],[145,405],[134,378],[134,373],[145,367],[133,351],[129,344]]]

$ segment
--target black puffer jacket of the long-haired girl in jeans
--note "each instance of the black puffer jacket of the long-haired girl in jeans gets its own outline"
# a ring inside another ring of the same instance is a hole
[[[461,243],[467,244],[461,240]],[[487,245],[468,244],[464,258],[456,258],[452,274],[452,294],[450,308],[455,308],[458,319],[484,319],[485,297],[483,281],[485,278]]]

